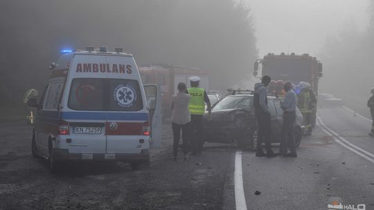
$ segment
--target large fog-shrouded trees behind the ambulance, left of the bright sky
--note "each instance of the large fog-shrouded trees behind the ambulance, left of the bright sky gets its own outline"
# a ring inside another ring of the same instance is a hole
[[[257,54],[250,12],[231,0],[1,1],[0,17],[0,106],[44,88],[62,48],[120,46],[139,66],[206,69],[222,89],[249,75]]]

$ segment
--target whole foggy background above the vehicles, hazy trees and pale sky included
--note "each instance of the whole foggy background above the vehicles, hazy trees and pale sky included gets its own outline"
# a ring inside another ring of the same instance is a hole
[[[211,88],[252,88],[253,61],[309,53],[320,90],[366,97],[373,81],[373,0],[1,1],[1,106],[43,88],[63,48],[123,47],[139,66],[207,70]],[[352,84],[352,85],[347,85]]]

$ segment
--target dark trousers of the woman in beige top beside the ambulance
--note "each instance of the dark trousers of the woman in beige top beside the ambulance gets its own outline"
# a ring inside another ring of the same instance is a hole
[[[174,136],[174,141],[172,144],[173,148],[173,154],[174,157],[177,157],[178,155],[178,149],[179,149],[179,139],[181,138],[181,131],[182,131],[182,149],[184,155],[187,155],[188,153],[188,144],[189,144],[189,137],[188,134],[190,133],[189,131],[189,125],[190,123],[187,124],[176,124],[172,122],[172,135]]]

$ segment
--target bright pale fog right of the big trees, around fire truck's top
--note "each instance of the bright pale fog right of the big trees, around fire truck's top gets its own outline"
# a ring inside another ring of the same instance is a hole
[[[259,55],[308,53],[319,59],[320,92],[370,95],[374,86],[374,1],[251,0]],[[372,25],[371,25],[372,24]],[[371,47],[370,47],[371,46]]]

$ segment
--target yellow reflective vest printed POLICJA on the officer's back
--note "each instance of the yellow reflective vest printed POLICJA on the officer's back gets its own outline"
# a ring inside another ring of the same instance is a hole
[[[204,89],[203,88],[188,88],[190,94],[190,103],[188,104],[188,111],[191,115],[204,115]]]

